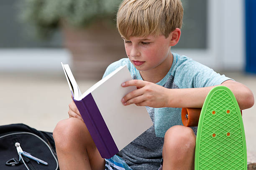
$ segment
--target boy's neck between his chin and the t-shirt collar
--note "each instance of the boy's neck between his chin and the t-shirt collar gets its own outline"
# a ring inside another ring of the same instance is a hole
[[[172,67],[172,62],[173,62],[173,55],[172,53],[170,53],[170,56],[167,57],[166,60],[164,60],[164,62],[162,62],[156,68],[147,70],[147,71],[139,71],[139,72],[144,81],[157,83],[161,81],[169,72],[169,70]]]

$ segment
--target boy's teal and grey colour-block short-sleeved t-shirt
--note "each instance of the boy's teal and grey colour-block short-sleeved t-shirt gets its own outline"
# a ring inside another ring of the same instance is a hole
[[[220,85],[226,80],[232,80],[189,57],[172,54],[172,67],[166,76],[156,83],[158,85],[171,89],[197,88]],[[143,80],[140,72],[128,58],[123,58],[110,64],[103,77],[123,65],[127,65],[133,79]],[[152,169],[152,166],[157,169],[161,162],[164,134],[172,126],[182,125],[182,108],[146,107],[146,109],[154,125],[118,153],[133,170]],[[197,127],[192,127],[192,129],[196,134]]]

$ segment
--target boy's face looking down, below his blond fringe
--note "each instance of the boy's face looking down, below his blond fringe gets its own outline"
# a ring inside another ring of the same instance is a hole
[[[164,35],[156,37],[149,35],[147,37],[130,37],[130,40],[123,39],[129,60],[140,71],[161,69],[162,63],[167,62],[172,56],[169,50],[170,36],[166,38]]]

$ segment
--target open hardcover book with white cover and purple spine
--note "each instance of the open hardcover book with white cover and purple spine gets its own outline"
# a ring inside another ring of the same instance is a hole
[[[121,102],[135,86],[122,87],[132,80],[127,66],[121,66],[83,94],[69,65],[61,65],[67,77],[73,100],[102,158],[111,158],[153,125],[146,107]]]

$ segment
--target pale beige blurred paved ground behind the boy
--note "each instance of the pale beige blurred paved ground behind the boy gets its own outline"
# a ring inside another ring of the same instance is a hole
[[[247,85],[256,96],[256,75],[225,72]],[[78,81],[84,92],[94,81]],[[0,125],[25,123],[33,128],[53,131],[59,120],[68,117],[71,101],[67,80],[62,74],[0,73]],[[247,148],[256,153],[256,106],[243,111]]]

